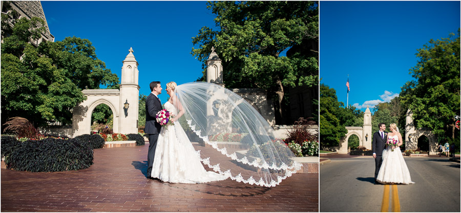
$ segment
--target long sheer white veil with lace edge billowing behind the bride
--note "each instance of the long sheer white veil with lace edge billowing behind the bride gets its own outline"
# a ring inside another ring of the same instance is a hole
[[[184,110],[179,122],[189,139],[214,148],[197,153],[215,172],[271,187],[301,168],[269,123],[239,95],[207,82],[181,84],[174,95],[174,104]]]

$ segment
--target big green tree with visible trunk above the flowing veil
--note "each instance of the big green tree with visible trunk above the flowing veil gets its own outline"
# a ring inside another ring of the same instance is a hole
[[[276,118],[289,87],[318,84],[318,2],[208,2],[219,30],[202,27],[192,54],[202,61],[215,47],[223,60],[224,83],[231,88],[261,88],[276,100]],[[287,50],[287,57],[280,56]]]

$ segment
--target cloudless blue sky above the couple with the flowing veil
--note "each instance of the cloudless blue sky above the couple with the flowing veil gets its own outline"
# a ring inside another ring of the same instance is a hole
[[[201,62],[190,54],[192,37],[203,26],[217,29],[206,2],[41,1],[41,5],[55,41],[69,36],[89,39],[97,57],[119,78],[132,47],[139,63],[139,93],[148,95],[149,83],[161,81],[162,100],[168,96],[167,82],[179,85],[202,75]]]

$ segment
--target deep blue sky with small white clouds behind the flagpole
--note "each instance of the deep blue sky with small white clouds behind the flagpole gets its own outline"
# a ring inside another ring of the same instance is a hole
[[[460,27],[457,2],[320,2],[320,82],[365,111],[413,78],[417,49]]]

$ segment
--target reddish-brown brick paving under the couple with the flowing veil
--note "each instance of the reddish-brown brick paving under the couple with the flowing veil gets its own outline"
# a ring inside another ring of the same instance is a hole
[[[95,150],[94,164],[80,171],[30,173],[1,169],[1,210],[203,212],[319,209],[318,173],[294,174],[273,188],[230,179],[204,184],[163,183],[145,178],[148,146]],[[209,149],[200,147],[202,153]]]

